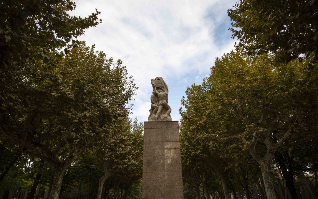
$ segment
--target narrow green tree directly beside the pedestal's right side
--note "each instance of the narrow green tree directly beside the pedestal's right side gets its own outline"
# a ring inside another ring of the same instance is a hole
[[[223,135],[219,131],[222,123],[220,123],[218,118],[214,118],[212,106],[215,103],[207,100],[209,99],[208,90],[202,85],[192,84],[191,88],[187,88],[186,94],[187,99],[185,100],[184,97],[182,99],[182,105],[185,110],[180,109],[180,115],[182,116],[180,127],[182,135],[181,146],[186,147],[184,149],[181,147],[181,151],[184,151],[182,153],[183,159],[189,161],[194,157],[196,160],[191,161],[200,161],[201,173],[203,173],[204,177],[200,177],[200,172],[197,171],[196,178],[202,183],[206,195],[209,195],[207,186],[211,171],[204,169],[204,165],[208,168],[213,168],[222,183],[225,198],[230,198],[226,175],[231,169],[227,165],[232,162],[233,156],[231,157],[231,155],[234,153],[234,147],[232,149],[228,148],[227,144],[232,144],[228,139],[222,139]],[[187,164],[193,167],[191,165],[193,162]],[[193,184],[196,183],[193,181]]]

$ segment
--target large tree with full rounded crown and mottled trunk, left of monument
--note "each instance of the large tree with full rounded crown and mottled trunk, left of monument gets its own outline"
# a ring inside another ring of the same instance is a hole
[[[56,67],[39,72],[41,79],[25,81],[30,93],[21,107],[23,115],[8,115],[15,123],[4,133],[24,153],[54,166],[50,198],[58,198],[66,168],[127,114],[136,87],[121,60],[114,63],[84,42],[47,64],[52,62]]]

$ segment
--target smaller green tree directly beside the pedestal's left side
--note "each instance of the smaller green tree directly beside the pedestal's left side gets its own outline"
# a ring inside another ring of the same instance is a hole
[[[120,184],[119,179],[127,181],[124,194],[127,198],[132,183],[140,179],[142,175],[143,124],[138,123],[137,119],[134,121],[123,119],[126,120],[114,124],[114,135],[110,134],[105,138],[103,145],[98,149],[97,154],[102,157],[100,164],[103,168],[103,176],[99,179],[97,198],[101,198],[104,182],[113,175],[117,177],[114,178],[116,182],[116,186],[113,186],[114,190]]]

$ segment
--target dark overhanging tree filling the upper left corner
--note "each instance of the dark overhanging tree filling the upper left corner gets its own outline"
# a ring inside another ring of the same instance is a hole
[[[55,62],[47,62],[53,57],[59,61],[57,58],[63,53],[57,50],[66,47],[86,28],[99,23],[100,12],[80,18],[68,14],[74,8],[71,0],[1,2],[0,140],[4,147],[17,147],[16,140],[8,139],[7,135],[18,128],[25,108],[30,105],[26,98],[35,94],[35,87],[30,85],[43,81],[45,71],[56,66]]]

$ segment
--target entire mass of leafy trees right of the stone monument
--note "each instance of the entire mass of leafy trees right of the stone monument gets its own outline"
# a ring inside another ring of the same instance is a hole
[[[236,51],[182,99],[183,179],[197,198],[316,199],[317,2],[241,0],[228,13]]]

